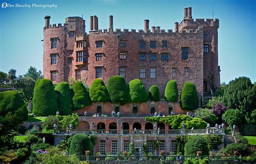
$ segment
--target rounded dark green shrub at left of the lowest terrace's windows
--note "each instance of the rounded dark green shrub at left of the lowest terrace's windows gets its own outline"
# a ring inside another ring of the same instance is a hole
[[[91,141],[89,136],[85,134],[76,134],[73,136],[69,153],[76,155],[85,155],[85,151],[91,150]]]

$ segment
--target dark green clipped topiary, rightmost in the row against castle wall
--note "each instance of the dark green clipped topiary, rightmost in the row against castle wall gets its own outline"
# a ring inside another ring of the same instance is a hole
[[[181,105],[184,110],[194,111],[198,108],[199,98],[196,86],[186,82],[181,91]]]

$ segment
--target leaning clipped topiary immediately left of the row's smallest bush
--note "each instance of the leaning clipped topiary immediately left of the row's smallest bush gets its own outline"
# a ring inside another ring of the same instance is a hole
[[[131,80],[128,84],[132,103],[143,103],[149,100],[145,85],[139,79]]]

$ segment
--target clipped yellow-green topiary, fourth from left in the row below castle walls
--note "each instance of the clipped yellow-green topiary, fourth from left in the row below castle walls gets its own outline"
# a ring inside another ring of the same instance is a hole
[[[109,101],[109,93],[102,79],[95,79],[89,90],[90,98],[95,102]]]

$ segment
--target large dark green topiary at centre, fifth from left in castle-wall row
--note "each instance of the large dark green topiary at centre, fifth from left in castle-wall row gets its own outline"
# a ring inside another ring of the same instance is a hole
[[[130,94],[122,76],[113,76],[107,82],[107,92],[113,103],[124,105],[129,102]]]

